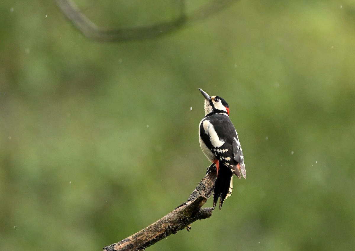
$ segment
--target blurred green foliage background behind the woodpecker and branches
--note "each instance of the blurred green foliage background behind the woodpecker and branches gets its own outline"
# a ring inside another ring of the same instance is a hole
[[[178,15],[76,3],[102,26]],[[198,87],[229,103],[247,179],[148,250],[355,250],[353,1],[236,1],[125,43],[85,38],[54,1],[0,8],[0,250],[102,250],[184,202],[209,166]]]

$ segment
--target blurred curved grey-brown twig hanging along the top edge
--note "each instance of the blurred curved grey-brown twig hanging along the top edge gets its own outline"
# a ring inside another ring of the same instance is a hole
[[[175,20],[161,22],[151,26],[133,28],[107,28],[94,24],[71,0],[55,0],[62,12],[69,18],[73,25],[89,39],[100,42],[124,42],[155,38],[175,31],[182,26],[202,20],[219,12],[236,0],[213,0],[196,11],[185,14],[184,0],[179,0],[180,15]]]

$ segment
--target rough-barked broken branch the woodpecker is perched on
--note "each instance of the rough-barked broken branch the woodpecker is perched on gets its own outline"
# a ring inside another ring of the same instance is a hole
[[[147,228],[104,247],[106,251],[138,251],[143,250],[166,236],[176,234],[177,231],[186,228],[191,229],[191,224],[196,220],[211,217],[213,207],[202,208],[207,199],[212,195],[217,172],[210,169],[206,176],[198,183],[189,199],[177,207],[174,211],[157,220]]]

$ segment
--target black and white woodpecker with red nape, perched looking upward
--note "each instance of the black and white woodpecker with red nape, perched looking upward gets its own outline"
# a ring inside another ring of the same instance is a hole
[[[219,208],[223,201],[232,194],[233,174],[240,179],[246,178],[244,156],[237,131],[229,119],[229,106],[219,96],[209,96],[202,89],[204,111],[206,116],[198,126],[200,147],[206,157],[217,169],[217,180],[213,189],[213,206],[219,200]],[[210,168],[211,168],[210,167]]]

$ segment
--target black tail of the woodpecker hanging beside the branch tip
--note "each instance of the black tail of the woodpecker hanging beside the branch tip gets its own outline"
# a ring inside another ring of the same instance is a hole
[[[213,189],[213,207],[216,207],[219,198],[219,209],[221,209],[223,201],[230,195],[229,193],[231,193],[229,187],[233,173],[224,165],[220,165],[219,167],[217,180]]]

